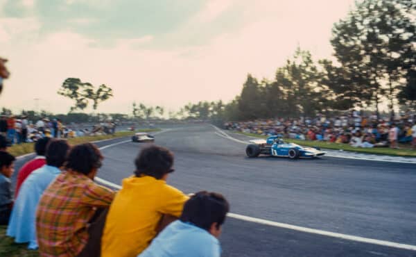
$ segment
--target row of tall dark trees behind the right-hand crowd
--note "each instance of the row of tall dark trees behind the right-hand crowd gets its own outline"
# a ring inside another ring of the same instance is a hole
[[[230,103],[189,103],[199,119],[249,120],[313,116],[353,108],[416,110],[416,1],[365,0],[334,24],[336,60],[317,60],[299,47],[271,80],[248,74]]]

